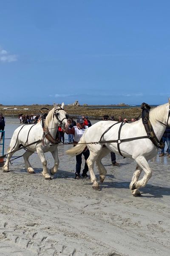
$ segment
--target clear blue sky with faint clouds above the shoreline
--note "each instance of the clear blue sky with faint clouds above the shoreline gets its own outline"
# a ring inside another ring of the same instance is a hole
[[[0,0],[0,103],[166,103],[169,10],[169,0]]]

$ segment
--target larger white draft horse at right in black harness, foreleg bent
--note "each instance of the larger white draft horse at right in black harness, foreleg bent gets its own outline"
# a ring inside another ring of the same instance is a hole
[[[153,126],[153,131],[157,139],[160,141],[161,137],[165,131],[166,125],[170,125],[169,119],[169,108],[170,108],[170,99],[169,104],[160,105],[156,108],[153,108],[149,113],[149,120],[151,125]],[[119,127],[122,124],[117,123],[114,125],[109,131],[107,131],[102,137],[102,141],[104,143],[99,144],[88,144],[91,142],[99,142],[102,134],[114,123],[115,121],[100,121],[96,124],[89,127],[82,138],[80,139],[79,144],[74,148],[71,148],[66,151],[67,154],[74,156],[76,154],[80,154],[86,146],[88,146],[90,151],[90,156],[86,161],[89,167],[89,172],[91,176],[91,182],[93,183],[93,188],[99,190],[99,184],[96,180],[96,176],[94,174],[94,162],[96,161],[96,165],[99,170],[99,180],[103,182],[105,179],[105,175],[107,173],[105,167],[102,165],[102,158],[105,157],[111,151],[119,154],[117,143],[105,143],[108,140],[117,140]],[[146,136],[147,133],[145,131],[144,125],[142,123],[142,119],[139,119],[133,123],[123,123],[122,129],[120,133],[121,139],[134,138],[134,137],[143,137]],[[87,143],[87,144],[86,144]],[[105,145],[103,147],[103,145]],[[156,156],[159,148],[157,148],[149,138],[142,138],[138,140],[131,140],[122,142],[119,144],[120,151],[124,157],[133,158],[136,163],[136,171],[133,173],[132,181],[130,183],[130,189],[132,190],[132,194],[134,196],[140,196],[140,191],[138,190],[141,187],[146,186],[147,181],[152,176],[152,171],[147,163],[148,160]],[[141,180],[139,180],[139,176],[144,171],[144,176]]]

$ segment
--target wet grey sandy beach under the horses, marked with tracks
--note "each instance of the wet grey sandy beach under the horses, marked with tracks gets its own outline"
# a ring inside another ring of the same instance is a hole
[[[5,152],[19,125],[17,118],[6,120]],[[42,177],[37,154],[30,157],[33,175],[23,157],[11,162],[11,172],[1,169],[0,255],[169,256],[170,158],[149,161],[153,176],[135,198],[129,189],[133,160],[117,156],[117,167],[105,157],[108,173],[101,191],[94,191],[90,180],[74,179],[75,157],[65,154],[70,147],[59,145],[59,171],[52,180]],[[46,157],[51,169],[51,154]]]

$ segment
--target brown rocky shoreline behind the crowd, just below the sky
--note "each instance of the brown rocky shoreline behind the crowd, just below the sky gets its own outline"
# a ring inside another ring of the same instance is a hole
[[[116,106],[117,108],[111,109],[110,106]],[[108,107],[108,108],[107,108]],[[48,108],[51,110],[53,105],[1,105],[0,112],[3,113],[4,116],[18,116],[20,113],[26,115],[37,114],[40,113],[41,108]],[[140,115],[141,108],[122,108],[122,106],[117,105],[95,105],[93,108],[88,105],[83,106],[70,106],[65,105],[65,111],[69,114],[69,116],[73,116],[77,118],[78,116],[88,116],[89,119],[102,119],[104,114],[108,114],[109,116],[114,116],[115,120],[118,119],[119,116],[126,117],[127,119],[136,118]],[[44,110],[44,112],[48,112]]]

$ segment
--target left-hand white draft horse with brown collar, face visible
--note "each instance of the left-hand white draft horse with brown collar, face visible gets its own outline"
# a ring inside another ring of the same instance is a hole
[[[51,178],[47,169],[47,160],[44,155],[45,152],[50,151],[54,157],[54,167],[51,169],[51,175],[54,175],[58,171],[58,125],[62,125],[63,127],[67,125],[67,114],[64,111],[64,103],[62,103],[61,107],[54,104],[54,108],[51,109],[46,116],[44,127],[42,123],[43,121],[41,120],[41,122],[37,122],[36,125],[21,125],[14,131],[8,148],[6,163],[3,166],[3,172],[9,172],[9,161],[11,156],[14,154],[13,151],[17,150],[21,146],[23,147],[31,143],[32,145],[26,147],[26,152],[23,154],[27,172],[34,173],[34,169],[29,163],[28,158],[35,151],[37,151],[42,162],[42,175],[45,179]]]

